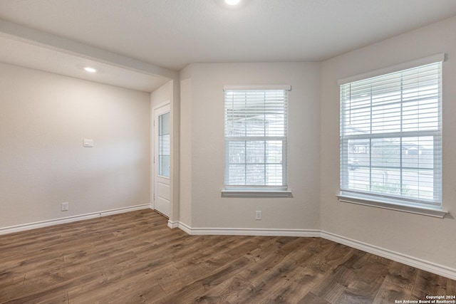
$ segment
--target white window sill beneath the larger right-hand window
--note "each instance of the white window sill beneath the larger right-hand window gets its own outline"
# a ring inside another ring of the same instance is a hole
[[[442,209],[410,206],[410,205],[406,205],[406,204],[403,204],[403,205],[393,204],[393,203],[389,203],[388,201],[366,199],[363,197],[350,196],[350,195],[346,195],[346,194],[338,194],[336,196],[339,201],[342,201],[344,203],[360,204],[360,205],[364,205],[364,206],[373,206],[373,207],[377,207],[377,208],[390,209],[390,210],[408,212],[408,213],[413,213],[413,214],[420,214],[420,215],[425,215],[425,216],[434,216],[434,217],[438,217],[440,219],[443,219],[445,217],[445,215],[448,213],[447,211],[443,211]]]

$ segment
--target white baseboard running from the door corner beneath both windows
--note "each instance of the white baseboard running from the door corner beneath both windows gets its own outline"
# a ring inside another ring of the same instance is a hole
[[[170,223],[168,223],[170,226]],[[447,266],[442,266],[430,261],[424,261],[420,258],[408,256],[403,253],[390,251],[385,248],[363,243],[353,239],[348,239],[344,236],[338,236],[330,232],[316,230],[316,229],[224,229],[224,228],[192,228],[179,221],[173,222],[170,228],[179,228],[190,235],[230,235],[230,236],[300,236],[300,237],[321,237],[329,241],[341,243],[352,248],[359,249],[368,253],[373,253],[383,258],[403,263],[408,266],[429,271],[439,276],[445,276],[456,280],[456,269]]]

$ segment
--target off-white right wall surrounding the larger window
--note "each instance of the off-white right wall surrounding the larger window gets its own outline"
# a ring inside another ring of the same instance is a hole
[[[321,229],[349,239],[456,268],[456,17],[322,63]],[[443,207],[445,219],[339,202],[337,80],[447,53],[443,64]]]

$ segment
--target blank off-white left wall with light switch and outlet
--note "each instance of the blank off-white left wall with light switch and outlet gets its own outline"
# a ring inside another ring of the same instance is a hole
[[[0,228],[149,204],[150,95],[0,63],[0,172]]]

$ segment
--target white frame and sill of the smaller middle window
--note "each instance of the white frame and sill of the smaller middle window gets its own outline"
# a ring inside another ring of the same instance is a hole
[[[224,85],[224,91],[229,90],[291,90],[291,85]],[[288,98],[286,100],[288,102]],[[226,102],[226,100],[224,100]],[[286,105],[288,106],[288,105]],[[225,117],[226,118],[226,117]],[[285,118],[285,123],[288,124],[288,117]],[[287,125],[286,125],[287,128]],[[228,151],[227,142],[230,140],[271,140],[268,137],[226,137],[225,136],[225,174],[227,174]],[[287,141],[288,135],[277,137],[276,140],[283,142],[282,152],[282,184],[280,186],[252,186],[252,185],[224,185],[222,197],[291,197],[291,191],[287,186]],[[225,177],[226,179],[227,177]]]

